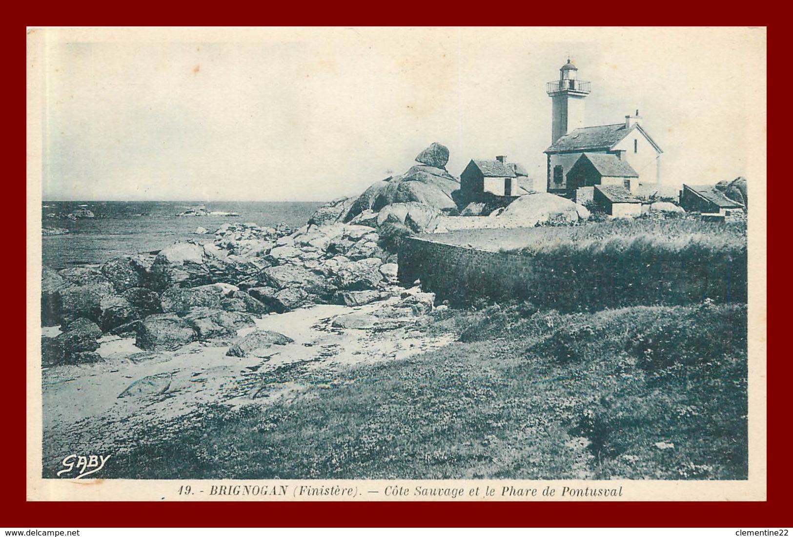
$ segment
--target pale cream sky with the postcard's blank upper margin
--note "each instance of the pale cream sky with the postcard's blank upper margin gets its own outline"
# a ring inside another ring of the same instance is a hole
[[[592,82],[586,125],[638,109],[661,182],[752,182],[765,51],[748,28],[41,29],[42,194],[327,201],[432,142],[452,175],[507,155],[544,182],[546,82],[568,56]]]

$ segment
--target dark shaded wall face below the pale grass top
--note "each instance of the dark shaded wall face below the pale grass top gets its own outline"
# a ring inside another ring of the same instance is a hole
[[[628,305],[746,301],[746,255],[700,252],[696,259],[662,258],[648,251],[624,255],[521,255],[408,238],[399,252],[399,278],[453,305],[479,299],[527,300],[559,311]]]

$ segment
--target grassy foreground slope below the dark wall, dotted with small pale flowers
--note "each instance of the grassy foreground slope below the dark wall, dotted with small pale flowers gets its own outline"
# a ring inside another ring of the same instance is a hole
[[[433,313],[458,342],[318,374],[301,397],[152,428],[115,478],[745,479],[746,309]]]

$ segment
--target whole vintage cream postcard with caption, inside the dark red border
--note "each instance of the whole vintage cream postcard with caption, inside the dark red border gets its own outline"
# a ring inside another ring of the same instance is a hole
[[[765,69],[29,30],[29,500],[763,501]]]

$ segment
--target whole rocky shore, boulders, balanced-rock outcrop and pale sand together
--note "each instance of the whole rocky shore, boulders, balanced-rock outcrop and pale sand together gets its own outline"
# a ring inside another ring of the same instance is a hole
[[[118,452],[196,405],[297,397],[301,375],[331,388],[340,367],[451,343],[427,335],[446,305],[398,281],[404,236],[588,216],[550,194],[466,206],[447,161],[432,144],[403,175],[325,204],[301,228],[199,226],[156,253],[43,267],[45,466],[57,466],[59,445]]]

